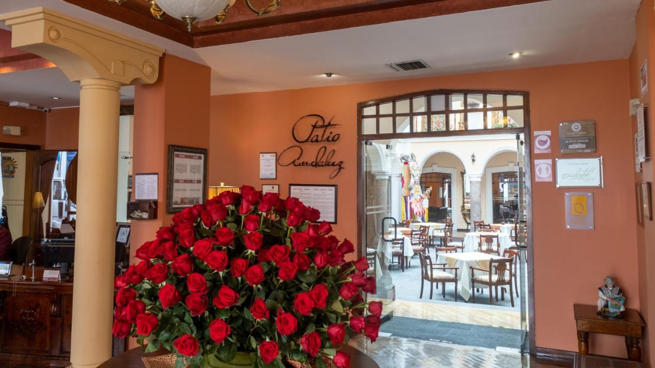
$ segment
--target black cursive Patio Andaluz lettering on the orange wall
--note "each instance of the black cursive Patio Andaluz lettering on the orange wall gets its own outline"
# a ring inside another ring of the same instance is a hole
[[[312,168],[333,168],[329,174],[330,179],[334,179],[341,170],[343,170],[343,161],[337,160],[335,149],[327,146],[329,143],[339,141],[339,133],[335,133],[333,128],[341,126],[334,124],[332,119],[327,120],[321,115],[310,114],[296,120],[291,128],[291,136],[298,143],[282,151],[278,155],[278,164],[280,166],[308,166]],[[324,143],[316,150],[316,155],[305,155],[303,144],[307,143]]]

